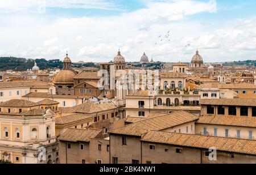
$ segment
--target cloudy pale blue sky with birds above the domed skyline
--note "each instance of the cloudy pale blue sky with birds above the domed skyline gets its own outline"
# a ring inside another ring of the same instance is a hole
[[[0,57],[190,62],[197,48],[204,62],[256,59],[256,1],[0,0]]]

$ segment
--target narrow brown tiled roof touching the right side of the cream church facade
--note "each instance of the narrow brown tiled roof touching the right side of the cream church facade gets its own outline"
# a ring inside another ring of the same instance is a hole
[[[64,117],[56,117],[55,123],[59,125],[65,125],[67,123],[81,121],[82,119],[87,119],[87,118],[90,118],[90,116],[86,116],[85,114],[72,114]]]

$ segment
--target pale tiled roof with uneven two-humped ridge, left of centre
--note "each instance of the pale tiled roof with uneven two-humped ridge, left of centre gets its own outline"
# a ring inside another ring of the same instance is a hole
[[[101,104],[85,102],[83,104],[73,106],[73,109],[77,113],[95,113],[95,112],[101,112],[104,110],[117,109],[117,106],[115,106],[111,102],[101,103]]]

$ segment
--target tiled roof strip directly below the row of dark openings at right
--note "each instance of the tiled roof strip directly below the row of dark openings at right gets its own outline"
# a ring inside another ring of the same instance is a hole
[[[196,123],[256,127],[256,117],[204,116],[200,117]]]

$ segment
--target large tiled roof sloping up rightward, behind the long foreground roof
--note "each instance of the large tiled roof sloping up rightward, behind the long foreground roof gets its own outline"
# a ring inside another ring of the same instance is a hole
[[[195,121],[198,118],[199,117],[184,111],[173,112],[164,116],[152,117],[134,122],[130,125],[111,130],[109,133],[141,136],[142,134],[147,133],[148,130],[160,131],[169,127]]]

